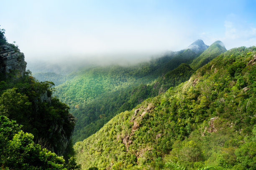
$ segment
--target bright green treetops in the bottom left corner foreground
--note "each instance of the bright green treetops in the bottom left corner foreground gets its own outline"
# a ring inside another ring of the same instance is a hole
[[[0,116],[0,169],[2,170],[79,170],[74,157],[65,163],[63,157],[41,148],[33,142],[33,135],[21,130],[20,125]]]

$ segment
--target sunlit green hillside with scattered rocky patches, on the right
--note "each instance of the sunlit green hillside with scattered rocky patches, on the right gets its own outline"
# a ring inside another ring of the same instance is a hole
[[[77,162],[83,169],[256,169],[255,63],[254,46],[220,54],[77,142]]]

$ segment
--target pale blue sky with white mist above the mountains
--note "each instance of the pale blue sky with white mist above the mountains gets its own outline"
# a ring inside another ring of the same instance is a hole
[[[25,60],[145,58],[197,39],[256,46],[256,0],[1,0]]]

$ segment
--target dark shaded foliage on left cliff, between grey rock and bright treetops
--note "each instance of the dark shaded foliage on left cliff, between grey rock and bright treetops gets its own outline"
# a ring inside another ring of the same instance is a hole
[[[0,115],[16,120],[23,125],[23,131],[34,135],[35,141],[58,152],[61,136],[54,133],[53,125],[62,126],[70,136],[74,123],[69,122],[69,107],[51,98],[51,85],[51,82],[36,81],[29,72],[20,78],[1,81]]]

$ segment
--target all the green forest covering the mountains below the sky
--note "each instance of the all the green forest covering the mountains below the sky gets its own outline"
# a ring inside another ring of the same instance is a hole
[[[1,170],[256,169],[255,46],[32,74],[0,29],[0,55]]]

